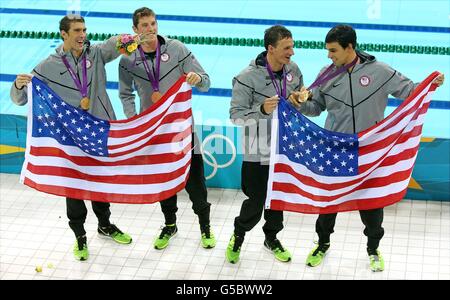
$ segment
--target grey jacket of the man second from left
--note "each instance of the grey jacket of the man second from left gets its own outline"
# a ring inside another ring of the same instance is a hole
[[[202,80],[197,86],[201,92],[207,92],[211,82],[208,74],[194,55],[178,40],[158,35],[161,45],[161,63],[159,73],[159,89],[165,92],[180,78],[182,74],[195,72]],[[154,68],[154,59],[147,58],[150,69]],[[136,115],[135,95],[140,98],[140,112],[151,106],[153,88],[144,69],[139,51],[130,56],[122,56],[119,63],[119,97],[122,100],[125,115],[130,118]]]

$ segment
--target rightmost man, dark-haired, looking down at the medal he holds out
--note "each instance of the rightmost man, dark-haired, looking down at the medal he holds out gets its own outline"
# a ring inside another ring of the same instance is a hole
[[[326,38],[328,58],[332,64],[323,68],[315,82],[307,91],[291,95],[291,102],[307,116],[318,116],[327,110],[325,129],[358,133],[384,119],[388,96],[407,98],[417,84],[379,62],[368,53],[356,50],[356,32],[349,25],[337,25]],[[440,74],[433,83],[444,82]],[[384,235],[383,208],[360,210],[361,221],[367,236],[367,254],[370,269],[384,270],[384,260],[378,246]],[[321,264],[330,247],[330,235],[334,232],[337,214],[321,214],[316,221],[319,241],[309,253],[306,264],[315,267]]]

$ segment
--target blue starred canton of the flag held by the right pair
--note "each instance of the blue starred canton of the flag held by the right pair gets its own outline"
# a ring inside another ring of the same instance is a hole
[[[288,101],[278,105],[280,154],[323,176],[358,174],[358,136],[323,129]]]

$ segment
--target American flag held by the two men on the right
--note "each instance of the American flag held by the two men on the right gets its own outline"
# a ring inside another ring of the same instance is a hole
[[[438,75],[428,76],[388,117],[358,134],[325,130],[282,99],[272,121],[266,208],[329,214],[400,201]]]

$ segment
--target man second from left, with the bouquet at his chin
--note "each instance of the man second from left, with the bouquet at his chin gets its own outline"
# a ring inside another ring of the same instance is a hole
[[[133,30],[137,34],[146,35],[148,40],[130,56],[123,56],[119,63],[119,96],[128,118],[137,114],[134,92],[137,92],[140,98],[138,111],[143,112],[157,102],[183,74],[187,74],[187,83],[201,92],[208,91],[208,74],[184,44],[158,34],[156,15],[151,9],[142,7],[134,12]],[[203,158],[196,134],[193,134],[193,145],[186,191],[192,201],[194,213],[199,218],[201,245],[204,248],[212,248],[216,240],[210,228],[211,204],[207,201]],[[160,205],[165,226],[155,239],[155,249],[166,248],[169,240],[178,231],[177,196],[161,201]]]

